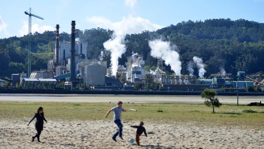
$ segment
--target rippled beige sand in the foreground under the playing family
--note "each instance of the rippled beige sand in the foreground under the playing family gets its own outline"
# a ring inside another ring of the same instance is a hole
[[[160,149],[215,149],[215,148],[264,148],[264,131],[238,127],[208,127],[193,124],[155,124],[145,122],[148,137],[140,137],[141,147],[129,138],[135,137],[136,129],[130,125],[137,122],[122,120],[123,138],[118,143],[111,139],[117,126],[110,120],[89,121],[48,121],[41,133],[42,143],[35,134],[34,122],[26,126],[27,119],[0,121],[0,148],[160,148]]]

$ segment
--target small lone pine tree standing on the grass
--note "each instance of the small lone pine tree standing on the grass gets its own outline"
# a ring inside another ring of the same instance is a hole
[[[216,96],[217,93],[214,92],[211,89],[205,89],[203,90],[203,92],[201,93],[201,97],[203,99],[205,99],[204,104],[208,107],[210,107],[211,105],[213,106],[213,113],[214,113],[214,107],[220,107],[222,104],[219,102],[218,98],[214,98],[214,96]]]

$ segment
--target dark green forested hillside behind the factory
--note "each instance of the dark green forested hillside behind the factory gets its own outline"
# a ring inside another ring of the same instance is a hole
[[[76,38],[88,43],[88,57],[98,58],[104,50],[103,43],[110,39],[109,29],[76,30]],[[126,36],[127,51],[119,59],[125,65],[127,57],[134,53],[143,54],[146,68],[156,66],[157,59],[151,57],[148,41],[164,38],[178,46],[182,61],[182,74],[188,74],[187,62],[193,56],[204,61],[205,76],[217,73],[224,67],[227,73],[245,71],[247,74],[264,70],[264,23],[248,20],[210,19],[188,21],[158,29],[155,32],[143,31]],[[60,42],[70,41],[70,34],[61,33]],[[46,69],[46,62],[53,58],[55,31],[34,33],[32,38],[32,70]],[[11,73],[26,72],[28,37],[0,39],[0,76],[10,77]],[[104,60],[110,64],[110,54]],[[152,67],[153,69],[154,67]],[[165,70],[172,73],[170,66]],[[194,73],[197,75],[197,71]]]

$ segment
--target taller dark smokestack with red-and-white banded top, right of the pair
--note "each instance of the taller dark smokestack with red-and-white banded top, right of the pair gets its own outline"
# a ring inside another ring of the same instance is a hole
[[[70,81],[75,81],[75,21],[71,21]]]

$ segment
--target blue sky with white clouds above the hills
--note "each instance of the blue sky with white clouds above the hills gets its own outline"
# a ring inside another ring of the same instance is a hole
[[[100,27],[140,33],[188,20],[242,18],[264,23],[263,6],[264,0],[9,0],[0,5],[0,38],[28,33],[24,11],[29,7],[44,18],[32,17],[32,33],[55,30],[56,24],[60,32],[70,33],[71,20],[81,30]]]

